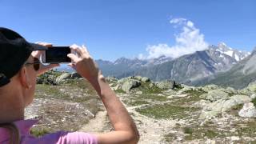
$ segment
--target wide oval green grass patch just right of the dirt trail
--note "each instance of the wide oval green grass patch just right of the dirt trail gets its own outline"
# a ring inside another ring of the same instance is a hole
[[[190,116],[190,113],[199,110],[195,107],[174,106],[170,104],[146,106],[136,109],[140,114],[146,115],[151,118],[173,118],[183,119]]]

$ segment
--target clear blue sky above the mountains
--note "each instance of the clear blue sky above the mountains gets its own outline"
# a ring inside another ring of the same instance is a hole
[[[256,46],[255,6],[254,0],[0,0],[0,26],[18,31],[30,42],[86,44],[94,58],[111,61],[148,57],[159,46],[179,48],[175,38],[181,37],[188,22],[202,43],[226,42],[251,51]],[[174,18],[183,18],[186,24],[171,23]]]

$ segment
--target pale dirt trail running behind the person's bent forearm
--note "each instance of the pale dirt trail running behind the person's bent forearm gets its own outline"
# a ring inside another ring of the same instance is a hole
[[[142,105],[143,106],[143,105]],[[140,134],[139,144],[148,143],[163,143],[162,139],[165,134],[169,134],[170,130],[177,123],[174,120],[155,120],[148,118],[135,111],[136,108],[141,106],[127,107],[130,115],[134,118],[134,122],[138,127]],[[181,123],[181,122],[179,122]],[[88,124],[82,127],[79,131],[91,132],[94,134],[110,131],[110,122],[107,119],[106,111],[100,111],[96,114],[94,119],[91,119]]]

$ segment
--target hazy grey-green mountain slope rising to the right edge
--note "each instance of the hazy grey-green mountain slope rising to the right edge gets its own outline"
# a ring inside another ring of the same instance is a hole
[[[214,83],[220,86],[232,86],[236,89],[246,87],[256,80],[256,47],[254,51],[230,70],[224,73],[214,74],[194,82],[194,85],[206,85]]]

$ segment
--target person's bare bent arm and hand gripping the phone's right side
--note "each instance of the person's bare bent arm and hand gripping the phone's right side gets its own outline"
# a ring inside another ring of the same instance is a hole
[[[80,49],[78,46],[71,46],[71,48],[78,53],[78,56],[74,54],[68,55],[73,60],[70,66],[94,86],[94,89],[98,92],[100,98],[102,98],[110,122],[114,127],[114,131],[109,133],[96,134],[98,142],[137,143],[139,134],[133,119],[116,94],[114,94],[114,91],[110,89],[109,84],[106,82],[94,60],[90,57],[86,47]]]

